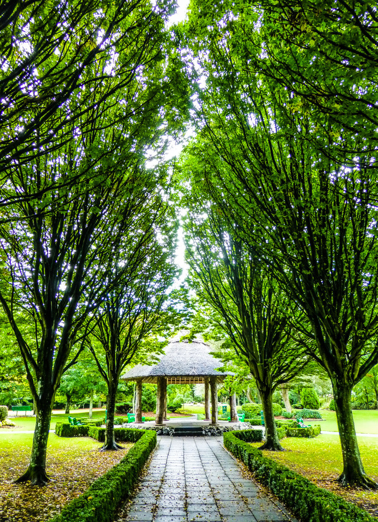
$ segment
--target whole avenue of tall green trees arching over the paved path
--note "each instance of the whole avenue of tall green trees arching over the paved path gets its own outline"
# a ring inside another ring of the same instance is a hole
[[[37,413],[19,481],[48,481],[54,397],[85,347],[108,387],[104,449],[117,448],[120,374],[177,325],[181,206],[189,285],[211,310],[202,326],[256,379],[265,447],[282,449],[274,390],[312,359],[333,387],[339,481],[377,489],[351,411],[378,363],[376,9],[191,0],[169,28],[173,10],[0,11],[0,303],[21,355],[10,371],[25,373]],[[189,121],[195,136],[169,165],[168,139]]]

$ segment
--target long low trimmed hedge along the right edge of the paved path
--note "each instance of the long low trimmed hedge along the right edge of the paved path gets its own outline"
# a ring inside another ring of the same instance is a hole
[[[254,472],[256,480],[270,488],[302,522],[376,522],[376,518],[363,509],[330,491],[318,488],[299,473],[265,457],[261,450],[245,442],[245,433],[249,431],[225,433],[225,447],[243,460]]]

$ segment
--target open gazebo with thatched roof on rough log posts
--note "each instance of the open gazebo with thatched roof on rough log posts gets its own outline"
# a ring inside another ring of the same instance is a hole
[[[176,336],[165,347],[165,353],[159,355],[159,362],[154,365],[138,364],[122,375],[124,381],[135,381],[135,422],[142,422],[142,384],[157,384],[156,424],[162,425],[167,418],[167,384],[204,384],[205,419],[217,424],[218,405],[216,385],[223,383],[231,372],[219,372],[215,368],[222,366],[219,359],[210,355],[210,346],[202,339],[191,342],[181,341]],[[210,388],[210,393],[209,393]],[[235,394],[231,397],[231,420],[237,420]]]

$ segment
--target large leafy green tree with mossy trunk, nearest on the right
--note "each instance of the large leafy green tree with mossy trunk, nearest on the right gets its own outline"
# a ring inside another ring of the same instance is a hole
[[[193,3],[191,14],[193,31],[201,6]],[[333,385],[343,454],[339,481],[375,489],[363,469],[350,402],[352,387],[378,361],[372,342],[378,327],[374,156],[365,137],[359,144],[347,125],[342,132],[319,130],[311,109],[296,98],[296,85],[274,86],[265,79],[266,64],[280,62],[264,52],[266,33],[254,26],[257,13],[237,7],[231,12],[225,5],[209,11],[213,15],[209,29],[201,21],[192,46],[207,74],[206,88],[198,89],[197,172],[242,238],[259,243],[268,235],[261,256],[305,311],[307,335],[318,350],[313,357]],[[205,34],[210,49],[203,53]],[[317,81],[323,80],[320,75]],[[333,75],[329,81],[338,85],[339,79]],[[375,97],[375,84],[364,78],[360,85],[357,77],[356,89]],[[348,114],[355,109],[353,104]]]

